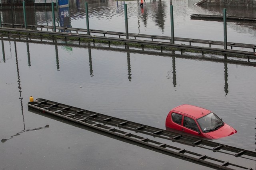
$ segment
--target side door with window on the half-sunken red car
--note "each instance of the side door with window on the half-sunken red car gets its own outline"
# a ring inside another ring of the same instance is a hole
[[[188,117],[188,116],[185,116],[185,115],[183,117],[181,131],[184,132],[184,133],[189,133],[189,134],[192,134],[192,135],[201,136],[201,133],[198,134],[198,132],[200,132],[200,130],[199,130],[199,127],[198,127],[196,121],[192,117]]]

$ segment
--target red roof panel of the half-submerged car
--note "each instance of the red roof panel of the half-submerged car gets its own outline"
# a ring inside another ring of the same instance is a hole
[[[178,107],[175,107],[172,110],[178,111],[180,113],[184,113],[187,115],[191,115],[191,116],[195,117],[196,119],[203,117],[203,116],[207,115],[208,113],[211,113],[210,110],[207,110],[207,109],[204,109],[204,108],[198,107],[198,106],[189,105],[189,104],[180,105]]]

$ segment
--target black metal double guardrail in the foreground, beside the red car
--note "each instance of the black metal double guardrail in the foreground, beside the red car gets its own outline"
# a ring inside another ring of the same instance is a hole
[[[186,149],[174,147],[172,145],[151,140],[149,138],[145,138],[140,135],[135,135],[134,133],[120,129],[127,129],[129,131],[136,132],[137,134],[142,133],[153,136],[155,138],[168,139],[174,142],[190,145],[193,147],[212,150],[214,151],[213,153],[222,153],[226,154],[227,156],[235,156],[252,161],[255,161],[256,158],[256,152],[250,150],[244,150],[228,145],[222,145],[220,143],[215,143],[213,141],[198,139],[196,137],[190,137],[172,131],[166,131],[164,129],[159,129],[148,125],[142,125],[140,123],[119,119],[116,117],[96,113],[93,111],[88,111],[78,107],[60,104],[58,102],[53,102],[50,100],[45,100],[41,98],[36,99],[36,102],[29,102],[28,107],[43,111],[43,113],[50,113],[58,117],[62,117],[64,119],[68,119],[70,121],[74,121],[76,123],[80,123],[82,125],[86,125],[88,127],[92,127],[94,129],[110,133],[112,135],[123,137],[125,139],[129,139],[150,147],[154,147],[156,149],[163,150],[165,152],[182,156],[220,169],[232,170],[239,168],[252,170],[252,168],[250,167],[248,168],[240,166],[239,164],[232,163],[230,161],[224,161],[210,156],[206,156],[205,154],[191,152]]]

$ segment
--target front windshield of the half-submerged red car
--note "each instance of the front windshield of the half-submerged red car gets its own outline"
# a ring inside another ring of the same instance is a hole
[[[205,133],[217,130],[219,127],[221,127],[224,124],[223,121],[212,112],[209,113],[208,115],[205,115],[204,117],[197,119],[197,121],[202,131]]]

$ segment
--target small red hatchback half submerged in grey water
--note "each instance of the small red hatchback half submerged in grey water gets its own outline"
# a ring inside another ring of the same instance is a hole
[[[212,111],[188,104],[172,109],[165,125],[167,130],[170,128],[207,139],[218,139],[237,132]]]

